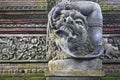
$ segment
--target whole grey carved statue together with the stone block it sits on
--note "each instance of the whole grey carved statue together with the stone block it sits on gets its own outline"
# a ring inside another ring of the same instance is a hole
[[[47,40],[48,53],[57,58],[48,63],[49,70],[63,76],[74,72],[101,76],[102,26],[101,9],[95,2],[63,0],[54,6],[48,15]]]

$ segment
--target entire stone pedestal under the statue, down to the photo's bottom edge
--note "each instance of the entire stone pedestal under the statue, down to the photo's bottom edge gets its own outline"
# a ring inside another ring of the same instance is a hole
[[[100,80],[104,76],[100,59],[51,60],[48,67],[48,80]]]

